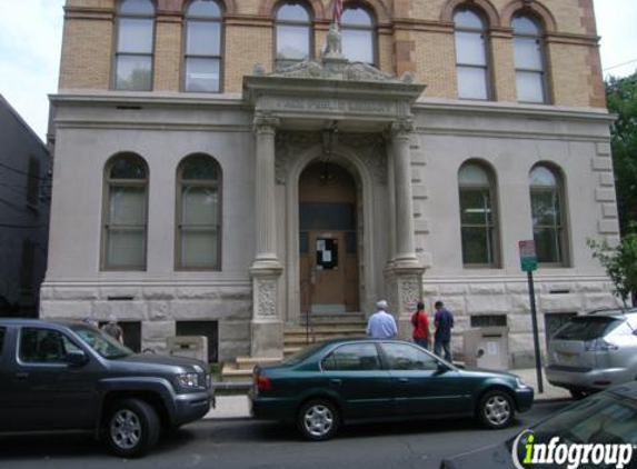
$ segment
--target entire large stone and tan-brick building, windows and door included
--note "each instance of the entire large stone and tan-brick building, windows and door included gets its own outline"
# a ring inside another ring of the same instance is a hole
[[[282,353],[302,318],[422,298],[462,330],[615,305],[591,0],[67,0],[43,317]]]

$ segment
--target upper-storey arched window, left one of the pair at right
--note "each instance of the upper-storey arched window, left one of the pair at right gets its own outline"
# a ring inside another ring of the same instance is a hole
[[[458,98],[489,99],[487,23],[477,11],[460,8],[454,14],[454,24]]]

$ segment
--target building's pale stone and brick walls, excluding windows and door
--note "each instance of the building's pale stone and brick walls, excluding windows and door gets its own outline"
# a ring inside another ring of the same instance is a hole
[[[229,1],[220,93],[182,92],[183,1],[157,2],[153,90],[136,93],[111,89],[116,2],[68,0],[52,97],[56,198],[42,316],[115,313],[141,322],[142,347],[155,349],[180,321],[213,321],[220,360],[280,355],[282,330],[300,320],[299,179],[326,154],[356,182],[360,310],[387,297],[402,337],[419,298],[428,311],[442,299],[457,318],[458,352],[464,330],[497,316],[509,328],[509,365],[531,363],[517,243],[533,237],[528,177],[540,161],[564,174],[568,257],[536,272],[540,333],[555,315],[616,305],[586,247],[588,237],[618,236],[590,2],[471,3],[490,22],[492,101],[457,99],[451,14],[460,0],[365,2],[377,22],[380,70],[321,61],[331,2],[308,1],[315,58],[273,74],[277,3]],[[549,104],[515,102],[510,18],[525,8],[546,29]],[[340,132],[329,152],[326,122]],[[120,152],[143,158],[150,174],[143,271],[100,263],[104,167]],[[193,153],[215,158],[222,173],[213,271],[175,267],[176,172]],[[458,171],[469,160],[495,176],[497,268],[462,265]]]

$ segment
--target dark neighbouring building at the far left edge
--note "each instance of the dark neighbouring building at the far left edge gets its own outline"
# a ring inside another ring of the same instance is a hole
[[[52,161],[0,94],[0,316],[38,316],[47,269]]]

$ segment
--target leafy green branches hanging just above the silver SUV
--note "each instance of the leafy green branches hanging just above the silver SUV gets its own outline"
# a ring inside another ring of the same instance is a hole
[[[616,246],[606,239],[597,241],[589,238],[586,241],[593,249],[593,257],[606,269],[624,306],[627,306],[628,298],[634,299],[637,295],[637,223],[630,223],[629,229],[633,232],[625,234]]]

